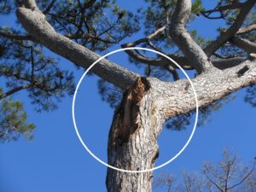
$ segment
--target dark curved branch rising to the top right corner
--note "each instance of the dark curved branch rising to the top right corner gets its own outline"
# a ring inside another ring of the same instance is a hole
[[[212,41],[212,43],[209,44],[205,49],[205,52],[208,56],[214,54],[217,49],[219,49],[227,41],[229,41],[230,38],[235,36],[236,32],[240,29],[241,25],[243,24],[248,13],[253,8],[253,5],[255,3],[255,0],[248,0],[246,3],[243,3],[240,13],[234,21],[233,25],[230,26],[230,28],[226,32],[223,32],[216,40]]]

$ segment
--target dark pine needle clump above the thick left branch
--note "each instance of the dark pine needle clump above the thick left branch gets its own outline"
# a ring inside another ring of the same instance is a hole
[[[38,5],[44,10],[47,2]],[[119,8],[113,0],[56,1],[46,16],[57,32],[95,37],[75,38],[77,43],[95,51],[108,49],[139,29],[137,16]]]

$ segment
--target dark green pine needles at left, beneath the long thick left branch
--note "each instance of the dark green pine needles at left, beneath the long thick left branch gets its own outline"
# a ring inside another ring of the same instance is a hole
[[[0,46],[6,47],[0,57],[0,77],[9,90],[30,84],[27,90],[38,112],[57,108],[61,97],[73,94],[73,73],[58,67],[41,45],[0,38]]]

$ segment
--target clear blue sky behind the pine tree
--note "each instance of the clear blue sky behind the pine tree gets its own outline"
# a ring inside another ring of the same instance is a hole
[[[214,6],[214,1],[207,6]],[[135,10],[143,6],[143,0],[118,1],[121,7]],[[0,25],[12,23],[12,19],[0,20]],[[202,25],[201,23],[204,22]],[[190,28],[197,29],[206,38],[216,36],[215,29],[222,25],[218,21],[195,20]],[[143,37],[143,32],[125,42]],[[112,49],[119,48],[119,45]],[[109,50],[112,50],[109,49]],[[124,67],[132,67],[125,54],[110,57]],[[78,82],[83,71],[61,59],[60,65],[73,70]],[[98,95],[96,77],[85,78],[79,90],[77,116],[79,131],[84,142],[102,160],[107,160],[108,130],[113,109],[102,102]],[[0,82],[2,86],[2,82]],[[236,100],[224,105],[212,114],[212,121],[195,132],[189,147],[177,160],[156,171],[178,173],[183,169],[198,171],[206,160],[216,161],[224,148],[232,148],[241,154],[244,162],[256,156],[256,118],[255,108],[243,102],[245,90],[237,92]],[[0,192],[84,192],[106,191],[105,166],[99,164],[88,154],[75,134],[72,122],[72,98],[67,97],[59,104],[59,109],[51,113],[35,113],[26,91],[16,98],[25,102],[29,121],[37,125],[35,138],[28,142],[20,138],[17,142],[0,145]],[[187,131],[167,131],[161,133],[160,159],[157,165],[172,158],[189,137],[192,127]]]

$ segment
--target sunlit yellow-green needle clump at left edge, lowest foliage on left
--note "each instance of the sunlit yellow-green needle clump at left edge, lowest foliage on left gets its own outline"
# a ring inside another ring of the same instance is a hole
[[[3,90],[0,89],[0,96]],[[9,142],[23,136],[31,140],[35,125],[26,123],[26,112],[19,101],[10,97],[0,101],[0,142]]]

